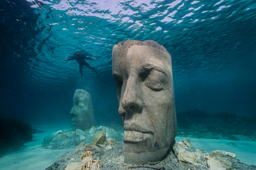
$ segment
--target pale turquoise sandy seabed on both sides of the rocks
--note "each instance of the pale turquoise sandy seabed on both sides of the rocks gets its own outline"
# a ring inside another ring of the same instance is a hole
[[[111,127],[110,127],[111,128]],[[16,153],[5,155],[0,158],[0,170],[44,170],[52,165],[56,159],[69,149],[45,149],[41,146],[43,138],[51,135],[58,130],[65,130],[69,128],[57,127],[43,128],[43,133],[34,134],[32,142],[28,142],[25,146]],[[119,130],[120,132],[120,130]],[[176,137],[176,141],[181,141],[183,137]],[[221,140],[221,139],[200,139],[188,138],[191,144],[206,152],[214,150],[223,150],[236,154],[236,158],[248,165],[256,165],[256,142],[239,141],[239,140]]]

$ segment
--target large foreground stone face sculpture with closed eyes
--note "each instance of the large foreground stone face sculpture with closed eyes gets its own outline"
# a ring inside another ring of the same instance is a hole
[[[161,161],[176,136],[171,55],[153,40],[127,40],[113,47],[112,65],[125,162]]]

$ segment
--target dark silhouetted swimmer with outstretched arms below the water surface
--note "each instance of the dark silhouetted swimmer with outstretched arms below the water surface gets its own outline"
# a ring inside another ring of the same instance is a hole
[[[69,61],[69,60],[76,60],[79,63],[79,70],[81,73],[81,77],[82,77],[82,67],[86,66],[88,68],[91,68],[92,70],[94,70],[97,74],[98,72],[91,67],[86,61],[85,59],[89,59],[89,60],[96,60],[95,58],[91,58],[91,57],[87,57],[85,54],[81,54],[79,52],[76,52],[72,57],[66,59],[65,61]]]

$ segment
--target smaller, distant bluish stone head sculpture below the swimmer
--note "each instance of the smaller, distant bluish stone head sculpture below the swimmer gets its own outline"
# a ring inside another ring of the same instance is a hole
[[[95,124],[91,95],[83,90],[77,89],[74,98],[74,106],[70,111],[72,116],[73,130],[87,130]]]

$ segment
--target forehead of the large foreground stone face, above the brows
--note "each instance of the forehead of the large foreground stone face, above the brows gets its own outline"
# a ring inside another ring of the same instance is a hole
[[[171,71],[171,55],[169,53],[143,45],[132,45],[123,49],[117,48],[113,50],[113,72],[139,68],[139,66],[146,63],[159,66],[166,72]]]

